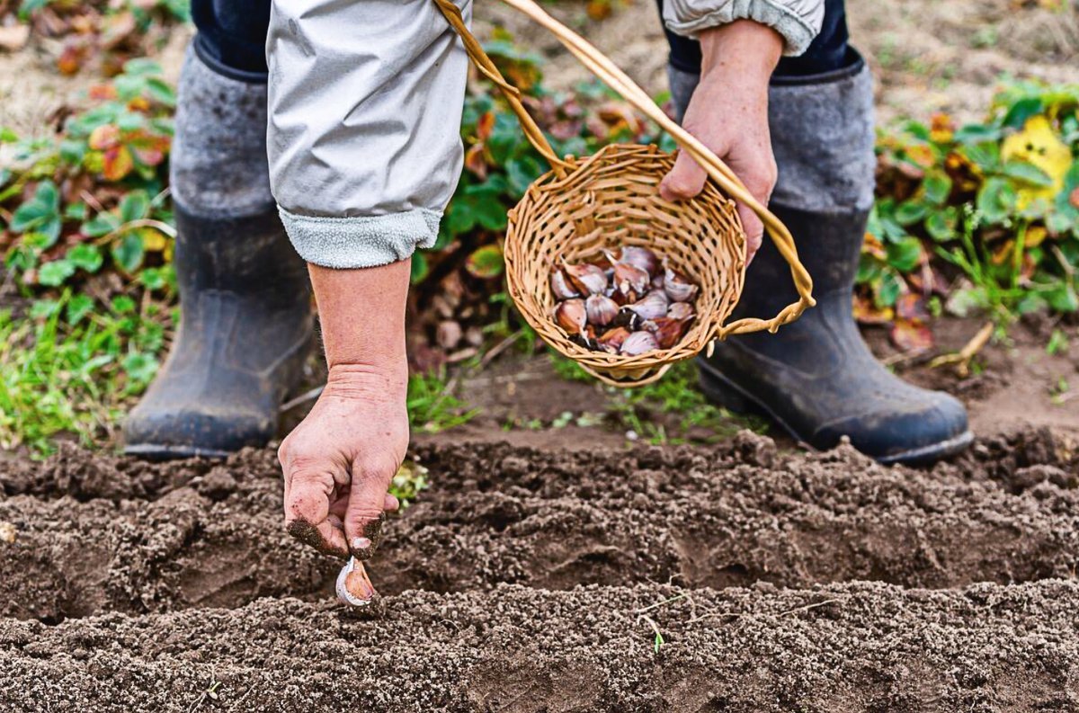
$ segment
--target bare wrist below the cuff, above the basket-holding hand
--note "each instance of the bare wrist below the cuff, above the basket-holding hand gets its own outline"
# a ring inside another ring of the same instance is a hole
[[[722,77],[766,88],[783,54],[783,38],[767,25],[738,19],[699,36],[701,80]]]

